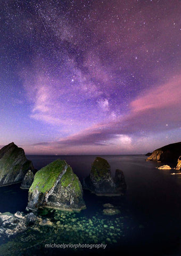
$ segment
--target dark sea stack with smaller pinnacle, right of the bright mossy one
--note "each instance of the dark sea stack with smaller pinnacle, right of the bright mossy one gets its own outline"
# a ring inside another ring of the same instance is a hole
[[[112,178],[109,163],[102,157],[96,157],[83,186],[97,195],[111,196],[121,195],[122,190],[126,188],[126,182],[121,170],[116,170],[116,175]]]

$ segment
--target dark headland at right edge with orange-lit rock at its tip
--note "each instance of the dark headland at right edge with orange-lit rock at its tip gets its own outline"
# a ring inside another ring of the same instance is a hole
[[[149,156],[146,160],[176,164],[180,155],[181,142],[177,142],[154,150],[151,156]]]

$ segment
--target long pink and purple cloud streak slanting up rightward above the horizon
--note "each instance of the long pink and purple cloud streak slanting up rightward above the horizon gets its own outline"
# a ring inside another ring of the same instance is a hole
[[[164,131],[179,128],[181,125],[180,81],[180,77],[173,78],[172,81],[160,85],[155,90],[150,89],[144,95],[138,95],[130,103],[130,113],[125,116],[109,123],[96,124],[67,138],[50,142],[49,145],[56,148],[118,145],[130,149],[133,147],[132,137],[136,133],[143,135],[145,132],[148,135],[153,131],[159,132],[160,129]],[[175,115],[175,105],[178,107],[177,115]],[[43,144],[39,143],[39,145]]]

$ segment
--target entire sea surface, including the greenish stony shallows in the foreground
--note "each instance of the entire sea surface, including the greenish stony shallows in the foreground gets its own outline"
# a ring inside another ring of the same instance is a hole
[[[57,158],[65,159],[80,180],[89,174],[95,157],[28,156],[38,170]],[[102,197],[85,191],[86,210],[81,213],[49,212],[45,217],[54,222],[53,228],[29,229],[26,233],[2,240],[0,255],[80,252],[80,249],[76,252],[45,249],[45,243],[106,244],[105,250],[95,249],[96,253],[180,255],[181,175],[170,175],[171,170],[158,170],[155,167],[161,163],[145,162],[146,157],[141,155],[102,157],[110,163],[112,174],[116,169],[124,171],[128,186],[124,196]],[[21,190],[19,184],[2,187],[0,193],[0,212],[25,211],[28,192]],[[113,204],[121,213],[103,215],[104,203]],[[58,226],[57,221],[63,227]],[[87,254],[93,252],[93,249],[82,250]]]

